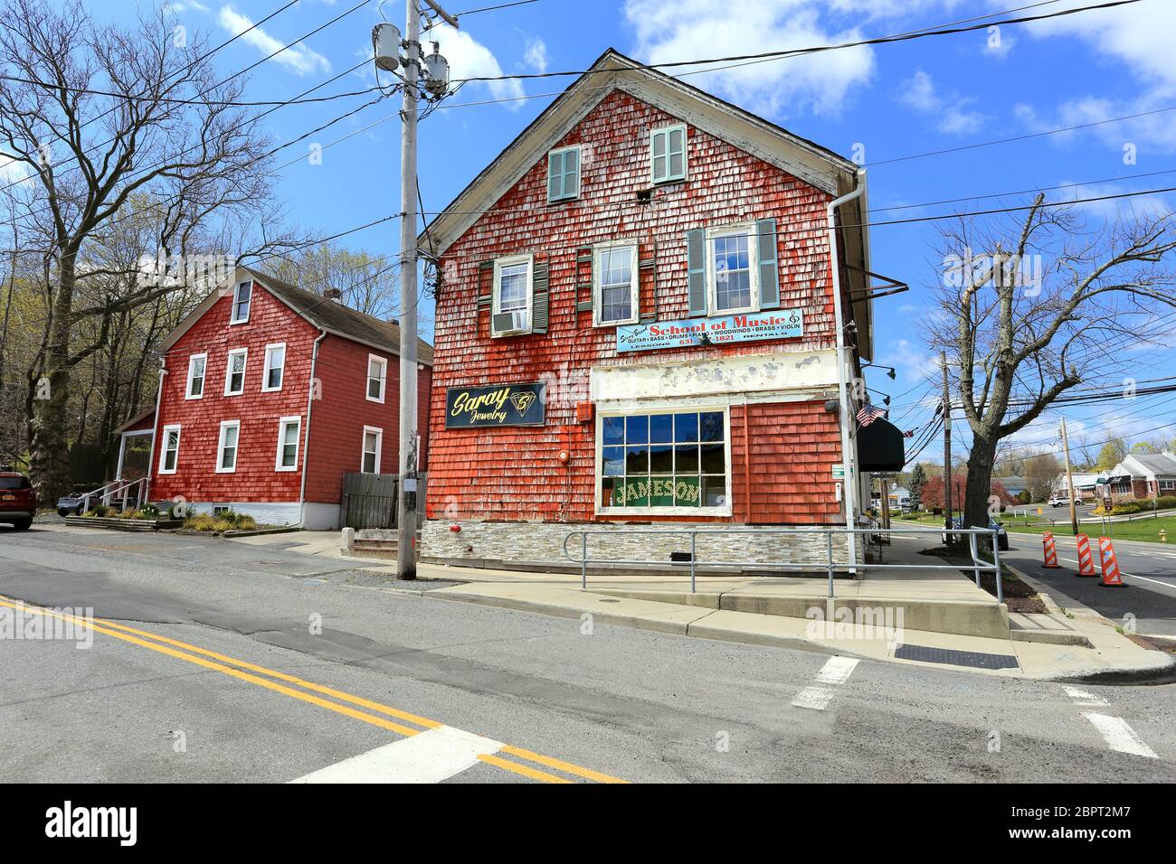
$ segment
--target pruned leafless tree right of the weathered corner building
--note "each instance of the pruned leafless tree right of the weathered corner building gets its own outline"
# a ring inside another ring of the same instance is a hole
[[[971,429],[964,518],[987,525],[1001,441],[1060,395],[1107,379],[1123,340],[1163,304],[1176,306],[1167,267],[1171,215],[1120,219],[1089,230],[1038,195],[1020,223],[961,220],[942,235],[947,268],[929,341],[949,353]]]

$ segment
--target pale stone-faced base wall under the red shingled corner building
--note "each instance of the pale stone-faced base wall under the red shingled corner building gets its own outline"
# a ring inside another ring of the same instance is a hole
[[[460,525],[460,531],[452,530]],[[588,535],[588,558],[643,562],[649,568],[684,569],[671,564],[670,552],[689,552],[690,537],[684,534],[659,534],[683,530],[695,525],[669,523],[666,525],[621,525],[608,523],[557,522],[479,522],[427,520],[421,531],[421,560],[426,562],[466,564],[468,567],[527,567],[537,570],[579,570],[581,540],[576,535],[568,542],[575,561],[563,552],[564,538],[579,530]],[[700,530],[715,531],[714,524],[699,524]],[[623,530],[622,530],[623,529]],[[603,535],[600,531],[615,531]],[[828,556],[828,541],[820,534],[801,534],[795,529],[753,527],[749,533],[699,534],[696,554],[700,564],[731,562],[739,564],[811,564],[821,571]],[[833,538],[834,562],[848,562],[846,538]],[[858,537],[857,560],[862,558]],[[593,564],[593,569],[615,569],[608,564]],[[632,569],[622,565],[621,569]],[[641,569],[641,568],[639,568]]]

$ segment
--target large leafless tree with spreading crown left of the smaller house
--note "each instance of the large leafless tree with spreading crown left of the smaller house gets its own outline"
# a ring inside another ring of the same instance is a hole
[[[35,188],[26,217],[44,235],[49,275],[28,400],[31,468],[44,500],[69,483],[71,370],[107,343],[113,316],[169,289],[103,282],[126,274],[88,260],[91,246],[133,196],[147,199],[160,247],[173,255],[209,213],[268,193],[266,141],[233,105],[245,80],[218,83],[206,53],[165,12],[121,28],[95,24],[80,2],[56,9],[5,0],[0,8],[0,68],[16,79],[0,81],[0,145]],[[91,341],[74,344],[91,317]]]

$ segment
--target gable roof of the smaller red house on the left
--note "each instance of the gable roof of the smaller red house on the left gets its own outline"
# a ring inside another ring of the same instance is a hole
[[[180,322],[179,327],[168,334],[167,339],[160,343],[159,350],[166,351],[175,344],[196,321],[212,309],[216,301],[223,296],[222,289],[225,286],[248,279],[252,279],[255,284],[269,292],[293,309],[300,317],[320,330],[349,339],[369,348],[377,348],[389,354],[400,355],[400,324],[395,321],[385,321],[373,315],[365,315],[356,309],[352,309],[349,306],[336,303],[305,288],[296,288],[288,282],[282,282],[280,279],[260,273],[250,267],[238,267],[229,280],[221,282],[201,301],[200,306],[188,317]],[[417,339],[416,359],[420,363],[433,366],[433,346],[422,339]]]

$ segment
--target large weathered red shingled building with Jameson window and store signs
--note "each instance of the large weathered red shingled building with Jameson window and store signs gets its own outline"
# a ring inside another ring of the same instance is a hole
[[[442,275],[422,557],[560,563],[583,524],[853,523],[866,207],[849,160],[603,54],[422,234]]]

